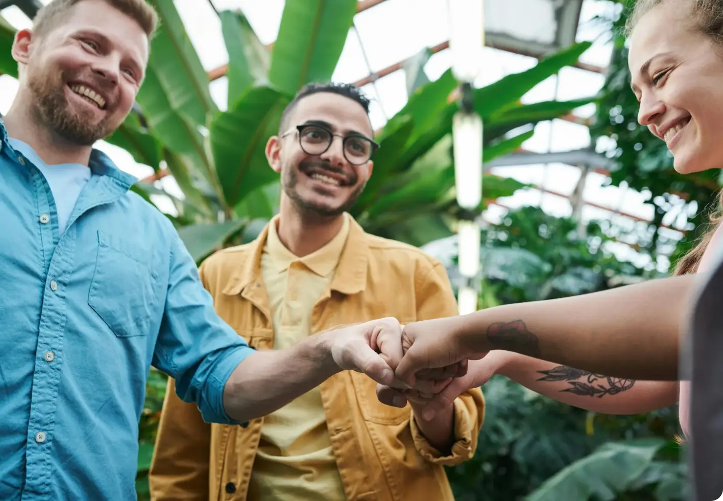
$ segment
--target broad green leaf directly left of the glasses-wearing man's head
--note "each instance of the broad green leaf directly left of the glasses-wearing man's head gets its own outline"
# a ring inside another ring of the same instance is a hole
[[[271,87],[252,87],[236,107],[210,125],[210,150],[223,196],[233,207],[248,193],[278,179],[268,166],[266,142],[278,134],[288,98]]]

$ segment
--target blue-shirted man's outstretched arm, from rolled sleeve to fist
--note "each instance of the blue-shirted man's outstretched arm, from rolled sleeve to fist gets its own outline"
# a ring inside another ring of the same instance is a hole
[[[176,236],[177,239],[177,236]],[[181,401],[206,422],[241,424],[265,416],[342,369],[391,384],[401,327],[375,320],[311,336],[284,350],[257,352],[213,309],[199,271],[177,239],[153,364],[174,377]]]

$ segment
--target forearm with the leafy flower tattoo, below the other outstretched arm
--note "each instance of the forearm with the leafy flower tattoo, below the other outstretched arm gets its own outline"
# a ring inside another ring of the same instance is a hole
[[[492,351],[497,374],[570,406],[604,414],[639,414],[677,402],[677,383],[607,377],[508,351]]]

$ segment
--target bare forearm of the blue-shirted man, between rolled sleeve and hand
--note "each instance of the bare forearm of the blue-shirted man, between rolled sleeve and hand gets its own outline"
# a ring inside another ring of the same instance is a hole
[[[226,413],[242,422],[266,416],[340,372],[330,343],[330,333],[322,333],[291,348],[248,356],[223,389]]]

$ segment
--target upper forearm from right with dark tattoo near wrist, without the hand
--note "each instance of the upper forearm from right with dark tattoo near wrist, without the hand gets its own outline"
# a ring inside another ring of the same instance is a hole
[[[515,351],[596,374],[677,380],[680,330],[695,275],[456,317],[469,352]]]

